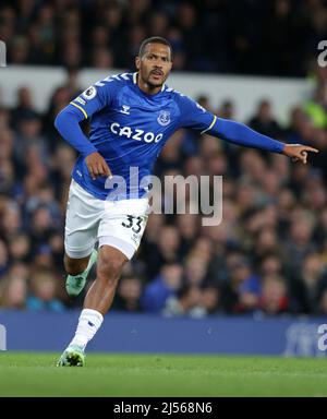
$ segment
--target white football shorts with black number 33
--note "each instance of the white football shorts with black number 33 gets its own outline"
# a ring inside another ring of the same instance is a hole
[[[148,218],[148,200],[102,201],[72,179],[70,185],[64,249],[72,259],[89,255],[98,241],[112,246],[132,259]]]

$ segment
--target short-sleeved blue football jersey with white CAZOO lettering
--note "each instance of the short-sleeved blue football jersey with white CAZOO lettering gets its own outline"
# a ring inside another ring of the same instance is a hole
[[[197,103],[167,85],[155,95],[145,94],[136,76],[137,73],[108,76],[69,105],[90,118],[89,141],[106,159],[113,179],[93,180],[82,155],[72,176],[101,200],[144,196],[154,164],[169,137],[180,128],[207,131],[216,120]]]

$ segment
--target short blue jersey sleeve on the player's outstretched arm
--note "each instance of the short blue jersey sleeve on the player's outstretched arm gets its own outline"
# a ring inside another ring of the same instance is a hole
[[[191,128],[205,133],[214,125],[217,117],[187,96],[179,97],[181,128]]]

